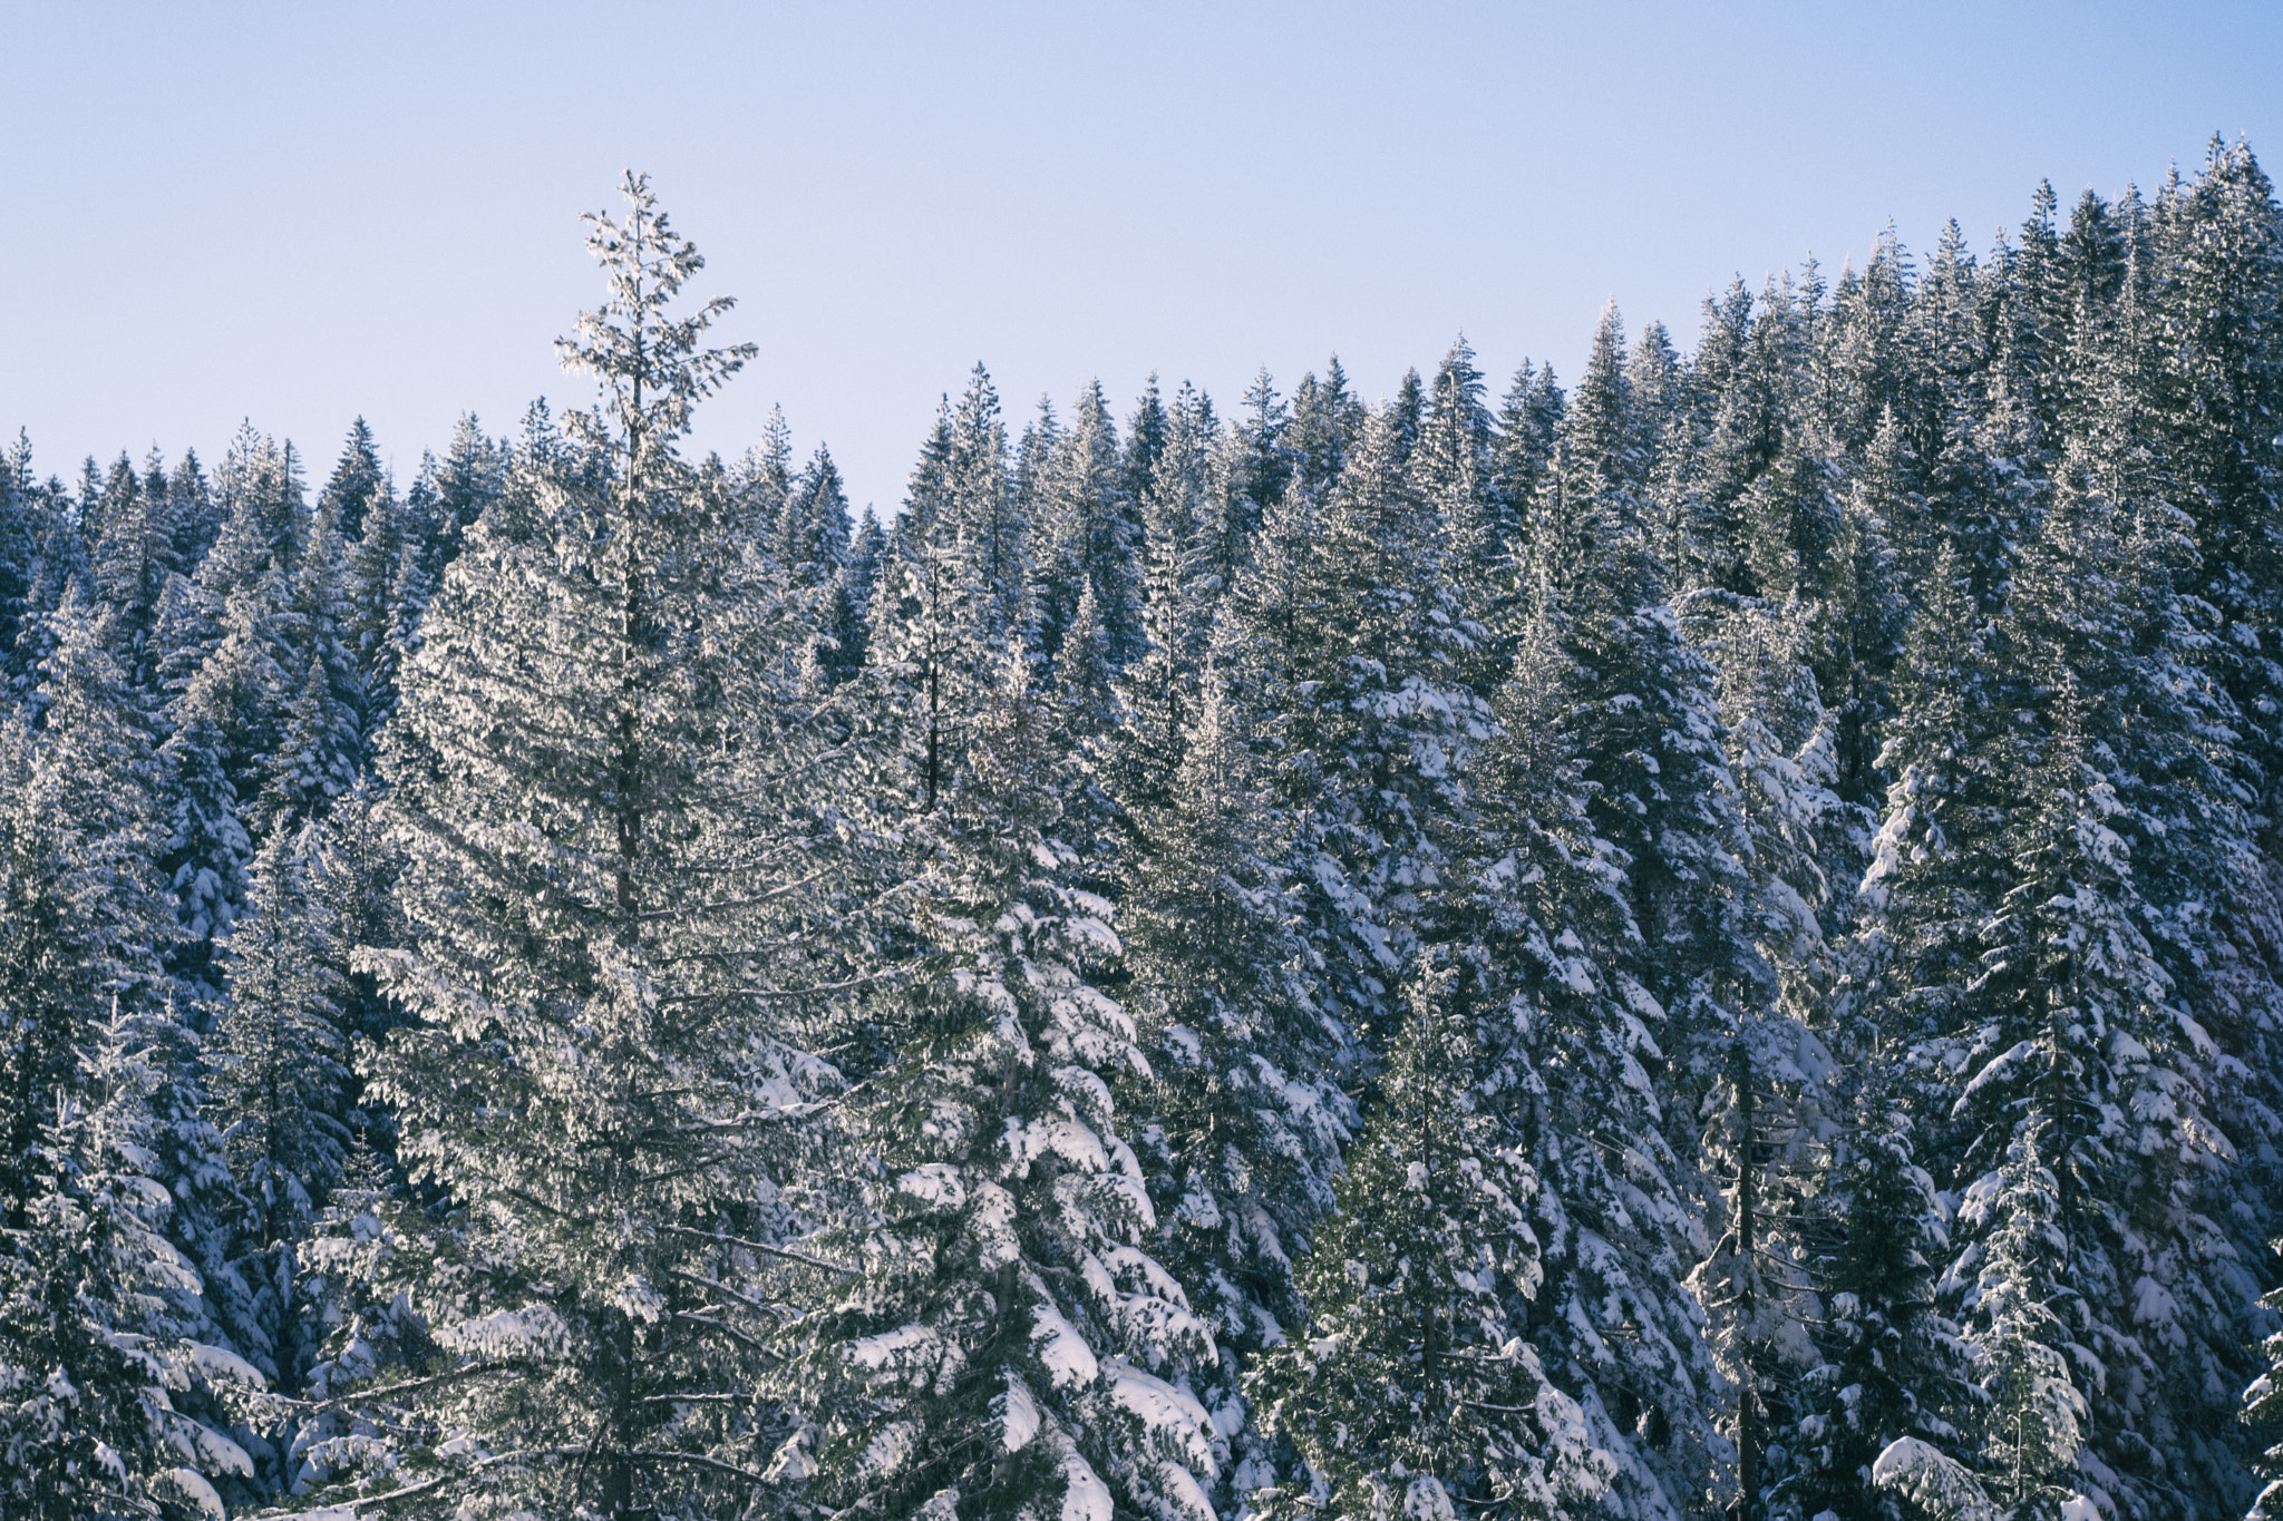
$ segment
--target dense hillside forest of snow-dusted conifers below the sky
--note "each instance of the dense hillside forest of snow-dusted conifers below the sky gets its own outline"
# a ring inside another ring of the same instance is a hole
[[[2283,1475],[2246,146],[861,522],[626,192],[589,410],[0,461],[0,1519]]]

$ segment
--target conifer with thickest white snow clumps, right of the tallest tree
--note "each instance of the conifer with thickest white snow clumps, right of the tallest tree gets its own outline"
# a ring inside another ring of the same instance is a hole
[[[1148,1074],[1091,981],[1110,905],[1068,885],[1062,771],[1021,650],[968,768],[913,825],[925,942],[895,1058],[849,1099],[863,1263],[774,1389],[776,1473],[849,1516],[1210,1521],[1212,1334],[1142,1243],[1155,1215],[1107,1076]]]

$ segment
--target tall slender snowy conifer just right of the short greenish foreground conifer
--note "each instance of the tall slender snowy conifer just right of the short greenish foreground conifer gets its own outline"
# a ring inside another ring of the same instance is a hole
[[[1703,1311],[1683,1288],[1705,1254],[1703,1211],[1667,1136],[1671,1031],[1639,981],[1630,862],[1589,816],[1605,718],[1573,618],[1607,611],[1564,602],[1550,550],[1532,543],[1498,732],[1470,771],[1479,835],[1454,944],[1482,978],[1484,1101],[1539,1177],[1546,1286],[1509,1316],[1612,1455],[1605,1507],[1678,1516],[1719,1443]]]

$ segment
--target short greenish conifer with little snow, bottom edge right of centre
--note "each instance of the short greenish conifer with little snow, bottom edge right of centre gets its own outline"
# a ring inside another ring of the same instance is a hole
[[[1297,1268],[1308,1320],[1256,1364],[1262,1425],[1306,1464],[1256,1514],[1559,1516],[1614,1478],[1507,1316],[1539,1288],[1539,1179],[1477,1108],[1454,981],[1406,981],[1379,1104]]]

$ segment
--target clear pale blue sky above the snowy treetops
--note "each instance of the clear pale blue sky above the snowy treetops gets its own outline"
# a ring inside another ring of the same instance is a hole
[[[550,340],[580,210],[646,169],[849,495],[902,499],[975,360],[1009,422],[1153,369],[1233,410],[1338,351],[1395,390],[1466,331],[1498,390],[1600,306],[1893,219],[1977,249],[2039,178],[2283,164],[2283,5],[126,5],[0,0],[0,429],[41,472],[251,417],[322,481],[363,413],[397,481],[452,420],[584,401]]]

